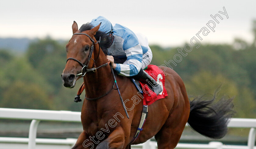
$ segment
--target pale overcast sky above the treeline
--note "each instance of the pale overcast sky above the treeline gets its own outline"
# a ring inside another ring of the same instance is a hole
[[[80,27],[99,15],[148,37],[150,44],[163,46],[190,42],[210,15],[224,12],[204,42],[232,43],[234,38],[251,42],[252,20],[256,19],[255,0],[171,1],[171,0],[2,0],[0,5],[0,38],[39,37],[70,39],[71,26]]]

